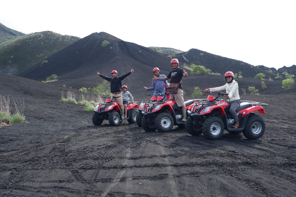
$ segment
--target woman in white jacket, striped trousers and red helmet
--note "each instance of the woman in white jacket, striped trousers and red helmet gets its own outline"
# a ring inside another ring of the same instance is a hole
[[[238,117],[236,115],[235,110],[241,105],[241,98],[238,93],[238,83],[234,80],[234,74],[231,71],[227,71],[224,74],[224,78],[225,81],[227,81],[227,83],[224,86],[207,88],[204,89],[204,92],[207,92],[209,90],[211,92],[226,90],[226,93],[228,93],[228,95],[226,95],[225,98],[229,100],[228,103],[230,106],[230,113],[234,121],[236,122],[235,125],[233,125],[232,127],[237,128],[240,126],[240,122],[238,121]]]

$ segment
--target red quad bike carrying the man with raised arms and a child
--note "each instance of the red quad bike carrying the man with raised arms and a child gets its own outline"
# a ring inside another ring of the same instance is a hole
[[[119,96],[113,96],[118,98]],[[105,98],[105,103],[97,104],[92,115],[92,123],[94,125],[101,125],[104,120],[109,120],[111,126],[118,126],[123,120],[127,120],[129,123],[136,123],[136,117],[139,113],[137,103],[129,103],[127,106],[127,118],[121,118],[121,111],[116,101],[111,101],[110,98]]]

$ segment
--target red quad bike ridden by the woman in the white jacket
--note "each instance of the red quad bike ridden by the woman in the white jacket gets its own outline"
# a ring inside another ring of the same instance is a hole
[[[217,96],[207,92],[207,101],[197,101],[192,103],[187,110],[186,129],[191,135],[204,134],[207,139],[219,139],[223,135],[224,129],[231,134],[240,134],[248,139],[259,139],[265,132],[265,122],[255,111],[265,114],[263,105],[254,101],[241,100],[241,106],[236,110],[240,127],[234,128],[234,120],[229,112],[230,107],[220,96],[228,93],[218,92]]]

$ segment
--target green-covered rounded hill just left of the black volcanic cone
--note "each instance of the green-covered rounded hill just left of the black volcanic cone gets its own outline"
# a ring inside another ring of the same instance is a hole
[[[0,72],[22,73],[79,39],[51,31],[37,32],[14,39],[1,39]]]

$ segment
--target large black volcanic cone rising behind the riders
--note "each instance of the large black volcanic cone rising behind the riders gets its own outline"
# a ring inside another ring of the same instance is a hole
[[[102,46],[104,42],[109,44]],[[117,70],[118,76],[121,76],[134,68],[136,74],[129,77],[131,80],[128,84],[132,85],[135,78],[149,78],[150,81],[156,66],[160,67],[162,73],[168,73],[171,69],[170,58],[163,54],[104,32],[82,38],[46,60],[46,64],[36,64],[19,76],[41,81],[51,74],[57,74],[61,81],[84,78],[87,85],[97,71],[111,76],[111,70]],[[97,82],[91,84],[97,85]]]

